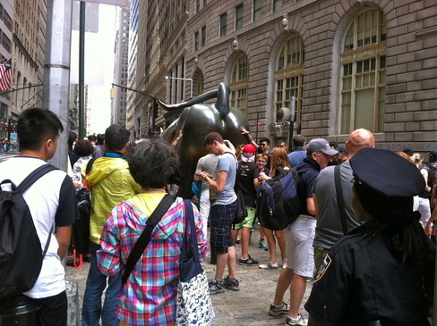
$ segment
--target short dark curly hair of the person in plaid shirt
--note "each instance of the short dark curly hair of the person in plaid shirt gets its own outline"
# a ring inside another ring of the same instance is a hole
[[[126,155],[133,180],[142,188],[162,188],[179,164],[175,149],[162,138],[144,139]]]

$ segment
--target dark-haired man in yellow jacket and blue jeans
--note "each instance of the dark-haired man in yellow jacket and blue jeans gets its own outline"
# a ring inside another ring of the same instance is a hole
[[[117,204],[141,192],[129,171],[124,155],[130,146],[129,131],[113,124],[105,131],[107,152],[92,163],[86,176],[91,191],[90,272],[83,297],[83,326],[116,326],[116,305],[121,290],[121,276],[107,277],[99,272],[96,252],[100,248],[100,233],[107,216]],[[102,293],[107,287],[102,306]]]

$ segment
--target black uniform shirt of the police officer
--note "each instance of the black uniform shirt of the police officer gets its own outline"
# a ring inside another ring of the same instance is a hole
[[[305,309],[327,325],[428,325],[431,293],[424,291],[420,268],[403,266],[382,236],[364,244],[354,232],[331,248]]]

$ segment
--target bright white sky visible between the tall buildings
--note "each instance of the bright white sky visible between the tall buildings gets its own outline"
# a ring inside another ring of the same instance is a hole
[[[78,20],[75,10],[79,10],[79,2],[73,5],[73,28],[74,21]],[[99,8],[99,31],[97,33],[85,33],[85,84],[89,85],[88,104],[90,113],[87,117],[91,128],[87,132],[104,133],[110,124],[111,99],[109,90],[113,82],[114,74],[114,45],[116,39],[116,6],[109,4],[87,3],[88,14],[86,15],[85,27],[97,28],[95,9]],[[92,13],[90,13],[92,11]],[[79,32],[73,29],[72,52],[71,52],[71,75],[72,84],[79,80]]]

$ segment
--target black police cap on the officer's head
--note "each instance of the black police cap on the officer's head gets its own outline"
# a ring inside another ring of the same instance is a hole
[[[424,191],[424,177],[416,164],[385,150],[365,147],[350,159],[355,182],[387,197],[416,196]]]

